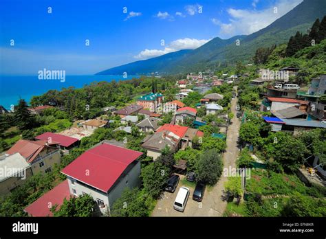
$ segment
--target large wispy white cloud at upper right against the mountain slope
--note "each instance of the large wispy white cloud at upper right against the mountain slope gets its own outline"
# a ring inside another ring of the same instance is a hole
[[[277,0],[274,5],[263,10],[229,8],[227,10],[230,15],[229,23],[222,23],[217,19],[211,19],[211,21],[213,24],[219,25],[220,34],[224,37],[235,36],[237,34],[252,34],[253,32],[267,27],[302,1],[303,0]],[[252,3],[257,2],[256,0]],[[276,13],[274,13],[274,8],[277,8]]]

